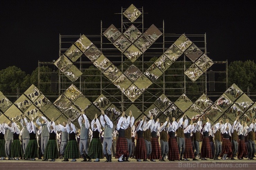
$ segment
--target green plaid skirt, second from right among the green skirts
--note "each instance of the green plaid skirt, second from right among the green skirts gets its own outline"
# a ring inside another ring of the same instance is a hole
[[[65,159],[76,159],[80,158],[80,153],[76,140],[69,140],[64,154]]]

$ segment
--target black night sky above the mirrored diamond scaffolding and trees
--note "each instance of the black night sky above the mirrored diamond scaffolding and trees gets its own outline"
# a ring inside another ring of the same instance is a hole
[[[106,28],[112,23],[120,26],[121,17],[114,13],[131,3],[147,13],[146,28],[162,26],[164,20],[167,33],[206,33],[208,56],[215,61],[254,59],[253,1],[1,0],[0,70],[17,66],[31,73],[38,60],[58,58],[59,34],[99,35],[101,20]]]

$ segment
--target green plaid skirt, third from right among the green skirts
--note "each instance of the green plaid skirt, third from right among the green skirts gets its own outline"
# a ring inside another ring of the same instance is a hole
[[[44,159],[58,159],[59,151],[55,139],[49,139],[44,151]]]

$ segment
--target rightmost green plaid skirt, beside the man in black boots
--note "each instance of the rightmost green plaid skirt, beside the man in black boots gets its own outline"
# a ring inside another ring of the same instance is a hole
[[[88,157],[91,159],[103,158],[102,144],[100,138],[92,138],[92,141],[88,149]]]

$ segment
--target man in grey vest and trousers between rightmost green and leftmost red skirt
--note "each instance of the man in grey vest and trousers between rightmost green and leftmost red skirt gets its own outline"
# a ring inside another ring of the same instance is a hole
[[[106,122],[105,122],[106,121]],[[104,139],[103,139],[103,153],[106,157],[105,162],[112,162],[111,157],[111,145],[112,145],[112,128],[113,123],[108,118],[108,116],[101,110],[100,122],[102,127],[104,128]],[[107,151],[106,151],[107,149]]]

